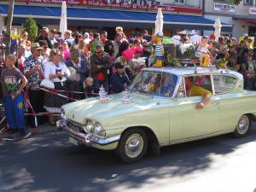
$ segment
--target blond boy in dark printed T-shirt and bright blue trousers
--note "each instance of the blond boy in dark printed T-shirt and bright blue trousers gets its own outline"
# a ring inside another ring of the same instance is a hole
[[[3,69],[3,100],[10,133],[19,131],[20,137],[26,136],[24,123],[24,97],[21,91],[26,86],[26,77],[15,67],[15,55],[6,57],[6,68]]]

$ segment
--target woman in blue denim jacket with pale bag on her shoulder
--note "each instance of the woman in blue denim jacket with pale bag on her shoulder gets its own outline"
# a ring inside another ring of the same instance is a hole
[[[67,60],[67,67],[71,73],[67,82],[67,90],[71,91],[69,96],[77,100],[84,99],[83,94],[72,93],[72,91],[83,92],[84,79],[89,76],[88,62],[81,57],[79,49],[71,50],[69,60]]]

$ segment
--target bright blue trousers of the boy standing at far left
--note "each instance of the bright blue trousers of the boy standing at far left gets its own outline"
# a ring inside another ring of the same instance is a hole
[[[6,120],[10,129],[25,129],[24,123],[24,97],[22,93],[16,96],[15,100],[11,96],[4,96],[4,108]]]

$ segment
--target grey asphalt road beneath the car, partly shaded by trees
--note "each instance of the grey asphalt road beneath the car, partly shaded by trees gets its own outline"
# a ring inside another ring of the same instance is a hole
[[[55,131],[0,144],[0,191],[253,192],[255,164],[256,129],[163,148],[131,165]]]

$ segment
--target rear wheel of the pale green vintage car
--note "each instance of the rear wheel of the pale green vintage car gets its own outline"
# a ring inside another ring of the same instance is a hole
[[[234,137],[246,137],[249,131],[251,131],[251,120],[247,115],[241,115],[233,135]]]

